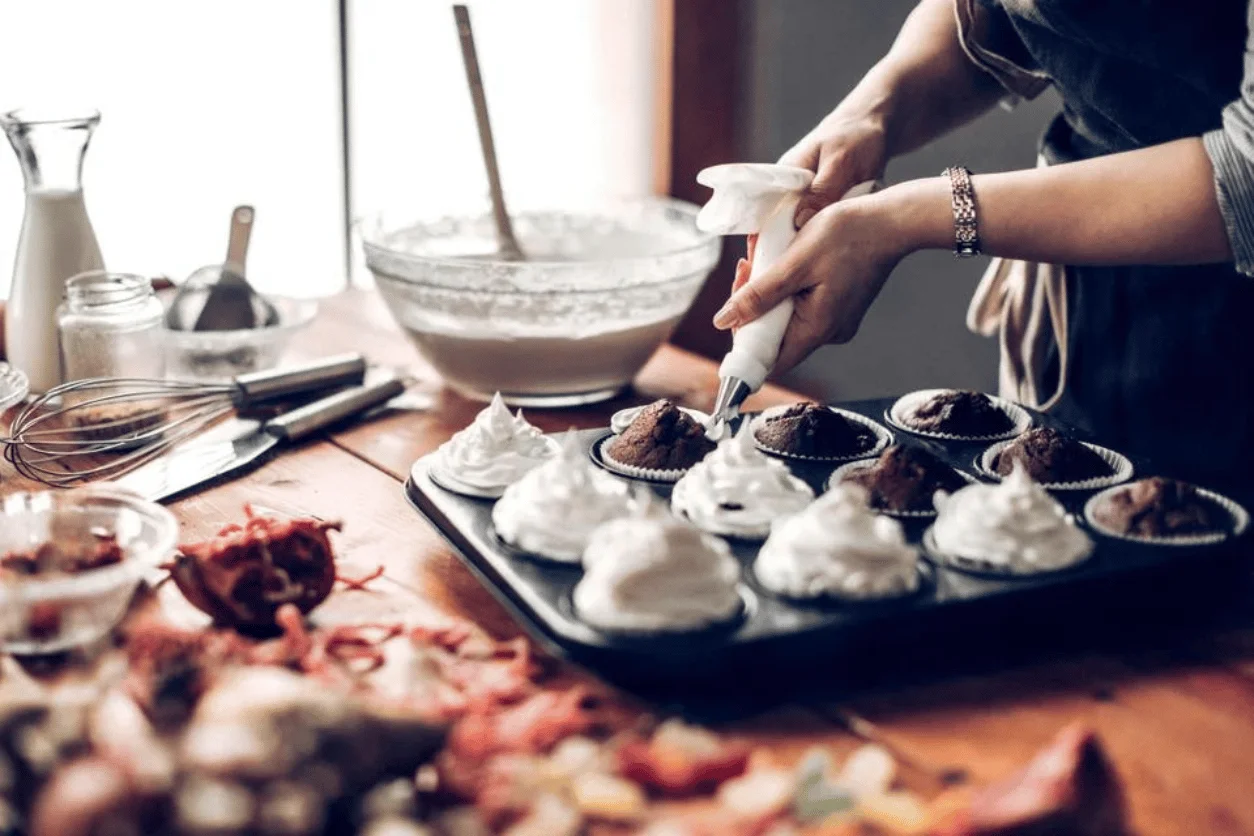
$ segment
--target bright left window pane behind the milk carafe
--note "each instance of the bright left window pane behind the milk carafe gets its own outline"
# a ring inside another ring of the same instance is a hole
[[[0,107],[103,114],[84,194],[110,269],[181,280],[221,262],[232,207],[252,203],[260,288],[344,286],[335,0],[4,3],[0,31]],[[0,148],[5,295],[21,213],[18,160]]]

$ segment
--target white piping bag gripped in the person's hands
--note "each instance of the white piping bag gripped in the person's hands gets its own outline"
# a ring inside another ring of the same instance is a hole
[[[869,194],[878,184],[867,180],[845,192],[844,197]],[[750,266],[749,282],[770,269],[796,237],[793,216],[800,194],[789,194],[779,202],[775,212],[762,224],[757,233],[757,247],[754,251],[754,263]],[[774,308],[747,325],[742,325],[732,337],[731,351],[719,366],[720,377],[735,377],[745,382],[750,391],[756,392],[766,382],[766,376],[779,358],[780,343],[793,318],[793,300],[786,298]]]

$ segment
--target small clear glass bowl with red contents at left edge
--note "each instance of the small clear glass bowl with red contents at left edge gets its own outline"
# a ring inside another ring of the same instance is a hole
[[[90,644],[125,614],[145,572],[174,553],[178,523],[110,486],[0,500],[0,651]]]

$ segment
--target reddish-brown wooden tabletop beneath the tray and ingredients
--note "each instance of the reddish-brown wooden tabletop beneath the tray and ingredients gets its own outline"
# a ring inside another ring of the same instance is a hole
[[[465,426],[482,407],[440,389],[435,374],[400,335],[382,303],[354,291],[326,302],[297,351],[320,356],[361,350],[376,363],[406,368],[426,410],[394,411],[325,440],[290,450],[237,481],[173,505],[188,539],[237,519],[251,501],[285,513],[342,519],[342,572],[382,564],[384,582],[340,592],[320,619],[361,617],[421,622],[472,619],[499,637],[518,627],[475,582],[440,536],[408,504],[401,484],[410,464]],[[646,366],[633,397],[667,396],[709,409],[714,363],[671,346]],[[796,400],[769,387],[750,405]],[[604,426],[622,401],[579,410],[530,411],[547,431]],[[5,489],[20,484],[6,473]],[[168,604],[181,605],[177,592]],[[186,608],[186,604],[182,604]],[[908,776],[927,791],[929,777],[964,771],[974,782],[1025,762],[1062,726],[1096,728],[1122,775],[1137,832],[1254,833],[1254,635],[1191,639],[1154,652],[1085,653],[992,674],[883,691],[839,706],[791,704],[736,733],[791,763],[810,746],[845,753],[877,736],[917,765]],[[587,676],[573,672],[572,676]]]

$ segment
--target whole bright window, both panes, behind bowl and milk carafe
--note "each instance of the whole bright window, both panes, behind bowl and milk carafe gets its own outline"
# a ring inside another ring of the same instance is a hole
[[[330,293],[345,283],[350,212],[487,193],[450,4],[344,3],[351,203],[337,0],[3,4],[0,107],[99,108],[84,191],[109,268],[181,280],[222,259],[231,208],[252,203],[250,278]],[[647,192],[652,3],[478,0],[472,14],[510,201]],[[6,293],[23,199],[5,154]]]

